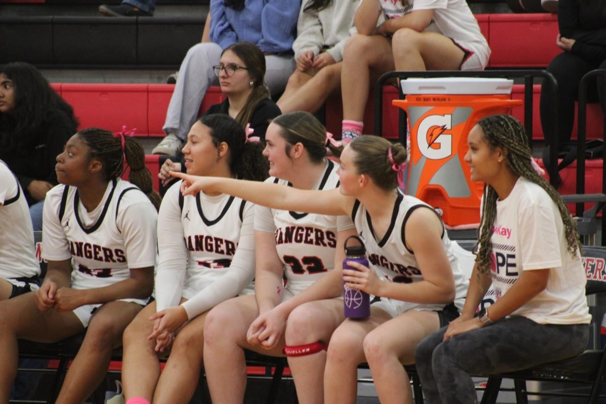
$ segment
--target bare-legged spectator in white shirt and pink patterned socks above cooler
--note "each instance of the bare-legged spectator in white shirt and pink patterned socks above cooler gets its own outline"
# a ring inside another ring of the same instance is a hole
[[[465,0],[362,0],[354,24],[358,35],[345,45],[341,75],[346,142],[362,134],[368,88],[382,73],[488,64],[488,42]]]

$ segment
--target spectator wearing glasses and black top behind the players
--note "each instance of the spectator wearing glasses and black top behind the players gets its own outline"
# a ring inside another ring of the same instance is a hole
[[[219,78],[221,91],[227,95],[225,101],[211,105],[204,116],[226,114],[236,119],[242,128],[250,125],[251,136],[265,139],[265,131],[271,119],[280,115],[280,108],[269,98],[269,91],[263,85],[265,76],[265,57],[262,51],[250,42],[236,42],[225,48],[221,62],[213,66],[215,76]],[[247,134],[248,136],[248,134]],[[175,159],[166,159],[158,176],[164,191],[175,180],[168,171],[181,171],[185,166],[183,153]],[[183,171],[185,172],[185,171]],[[265,173],[264,173],[265,174]]]

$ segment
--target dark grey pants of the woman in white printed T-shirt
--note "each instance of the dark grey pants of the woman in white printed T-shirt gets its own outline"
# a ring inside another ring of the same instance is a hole
[[[514,316],[442,342],[447,327],[416,348],[427,404],[477,403],[470,374],[509,372],[581,354],[589,325],[544,325]]]

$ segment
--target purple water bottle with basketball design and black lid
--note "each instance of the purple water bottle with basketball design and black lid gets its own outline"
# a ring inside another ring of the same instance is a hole
[[[357,239],[360,245],[347,247],[347,242],[350,239]],[[356,268],[347,265],[349,261],[361,263],[365,267],[368,267],[366,249],[358,236],[347,237],[347,240],[345,240],[345,259],[343,260],[344,270],[357,271]],[[348,319],[365,319],[370,316],[370,296],[361,290],[348,288],[345,282],[343,282],[343,308],[345,317]]]

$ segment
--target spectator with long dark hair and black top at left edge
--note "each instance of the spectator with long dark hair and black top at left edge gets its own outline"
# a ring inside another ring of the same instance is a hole
[[[77,127],[72,107],[37,68],[0,66],[0,160],[19,179],[34,230],[42,230],[44,197],[58,184],[56,156]]]

